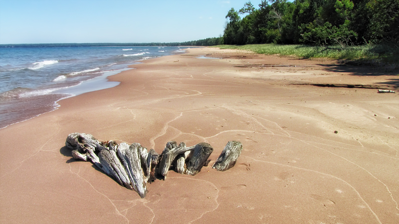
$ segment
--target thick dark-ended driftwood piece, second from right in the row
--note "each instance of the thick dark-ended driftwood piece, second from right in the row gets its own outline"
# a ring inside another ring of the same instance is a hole
[[[188,158],[189,161],[187,162],[185,173],[192,176],[199,173],[212,152],[213,148],[208,143],[198,143],[194,147],[194,152]]]

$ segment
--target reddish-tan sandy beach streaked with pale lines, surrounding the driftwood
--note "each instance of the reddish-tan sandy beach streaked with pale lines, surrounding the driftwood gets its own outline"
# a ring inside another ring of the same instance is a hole
[[[345,88],[395,90],[389,68],[216,48],[132,67],[0,129],[0,223],[399,223],[399,94]],[[208,142],[210,165],[229,140],[243,151],[225,172],[170,171],[141,199],[73,159],[72,132],[158,153]]]

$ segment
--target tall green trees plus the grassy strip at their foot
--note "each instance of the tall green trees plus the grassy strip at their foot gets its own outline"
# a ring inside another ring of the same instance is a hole
[[[399,64],[399,0],[248,1],[226,18],[220,48]]]

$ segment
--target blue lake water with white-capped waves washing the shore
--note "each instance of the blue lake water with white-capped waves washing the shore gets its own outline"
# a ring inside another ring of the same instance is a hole
[[[183,52],[149,46],[0,48],[0,128],[52,111],[60,99],[116,86],[106,77],[128,65]]]

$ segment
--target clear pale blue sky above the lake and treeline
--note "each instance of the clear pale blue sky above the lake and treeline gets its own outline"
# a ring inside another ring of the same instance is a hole
[[[0,44],[184,42],[223,34],[248,0],[0,0]],[[255,8],[261,0],[251,0]],[[241,15],[242,16],[242,15]]]

